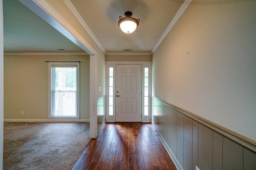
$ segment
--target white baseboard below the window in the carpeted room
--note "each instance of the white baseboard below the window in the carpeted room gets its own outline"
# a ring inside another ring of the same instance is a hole
[[[77,119],[77,118],[4,119],[4,122],[90,122],[90,119]]]

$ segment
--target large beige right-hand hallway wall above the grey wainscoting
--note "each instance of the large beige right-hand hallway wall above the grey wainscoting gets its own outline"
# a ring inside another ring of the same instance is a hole
[[[152,55],[153,96],[256,141],[255,9],[194,0]]]

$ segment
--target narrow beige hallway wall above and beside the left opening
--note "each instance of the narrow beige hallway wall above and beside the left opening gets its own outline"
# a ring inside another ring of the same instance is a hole
[[[104,52],[98,47],[95,41],[90,37],[84,27],[68,9],[66,4],[62,0],[46,0],[53,8],[56,10],[64,20],[66,20],[81,36],[86,42],[97,52],[97,86],[101,87],[101,92],[98,92],[100,97],[105,95],[105,57]],[[98,87],[96,89],[98,89]]]

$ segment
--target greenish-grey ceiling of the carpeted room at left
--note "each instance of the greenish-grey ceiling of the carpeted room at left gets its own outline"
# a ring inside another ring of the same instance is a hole
[[[3,11],[4,52],[84,52],[18,0],[3,0]]]

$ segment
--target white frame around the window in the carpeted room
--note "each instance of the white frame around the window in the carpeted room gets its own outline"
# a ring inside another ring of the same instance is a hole
[[[78,118],[79,114],[79,106],[80,106],[80,76],[79,76],[79,62],[48,62],[48,118]],[[51,113],[51,67],[52,66],[76,66],[76,116],[52,116]]]

